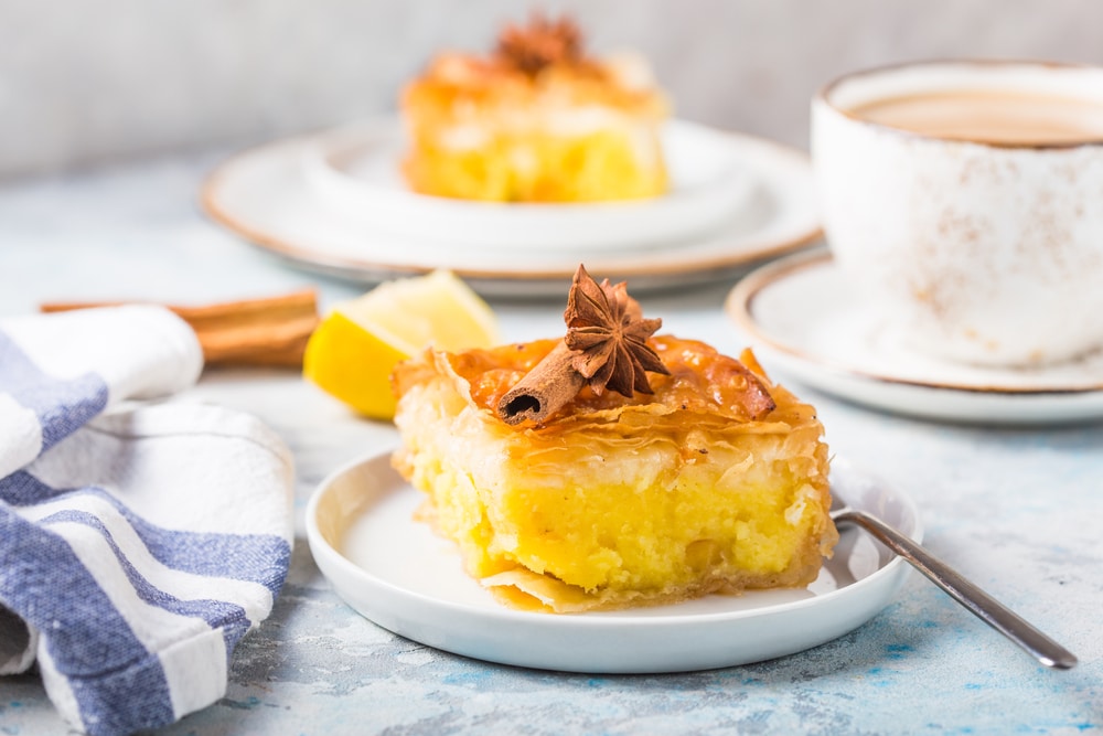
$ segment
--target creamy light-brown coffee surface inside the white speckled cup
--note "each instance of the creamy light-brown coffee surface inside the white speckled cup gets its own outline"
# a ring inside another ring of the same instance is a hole
[[[933,92],[887,97],[847,110],[910,132],[1003,146],[1103,141],[1103,102],[1031,93]]]

